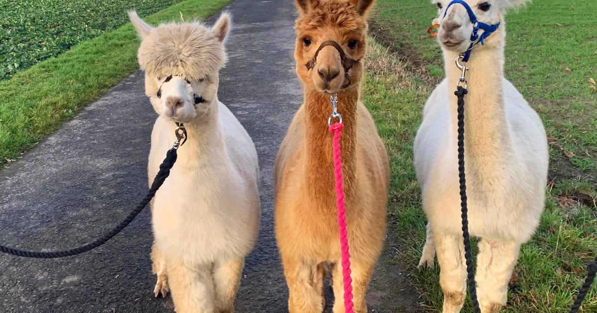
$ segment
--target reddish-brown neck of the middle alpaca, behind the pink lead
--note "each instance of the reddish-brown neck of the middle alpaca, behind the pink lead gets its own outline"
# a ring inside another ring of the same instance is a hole
[[[344,189],[347,194],[350,194],[349,190],[352,188],[356,171],[358,100],[358,88],[350,88],[338,94],[338,113],[342,115],[344,124],[340,147]],[[330,195],[334,194],[333,134],[327,125],[328,117],[332,112],[330,95],[306,86],[304,101],[306,153],[304,171],[307,191],[310,196],[321,196],[326,200],[334,199],[330,198]]]

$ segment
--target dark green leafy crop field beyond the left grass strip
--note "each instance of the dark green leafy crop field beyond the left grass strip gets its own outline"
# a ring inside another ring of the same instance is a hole
[[[0,0],[0,80],[181,0]]]

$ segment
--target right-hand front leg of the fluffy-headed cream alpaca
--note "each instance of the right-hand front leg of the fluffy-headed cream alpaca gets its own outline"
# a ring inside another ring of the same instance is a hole
[[[219,260],[214,263],[214,284],[216,286],[216,308],[219,313],[233,313],[234,299],[241,283],[242,266],[245,258]]]

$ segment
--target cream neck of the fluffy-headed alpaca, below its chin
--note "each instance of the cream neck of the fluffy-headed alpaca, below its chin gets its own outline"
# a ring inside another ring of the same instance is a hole
[[[208,106],[204,115],[196,117],[191,122],[184,123],[184,127],[187,130],[188,140],[178,150],[179,158],[177,162],[182,161],[181,166],[218,169],[230,165],[224,134],[220,126],[219,101],[217,98]],[[174,125],[174,128],[176,128],[176,125]],[[179,166],[178,163],[177,166]]]

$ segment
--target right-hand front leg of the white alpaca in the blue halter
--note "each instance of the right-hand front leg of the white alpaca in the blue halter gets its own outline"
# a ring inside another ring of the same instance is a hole
[[[482,239],[477,257],[477,290],[482,313],[497,313],[506,305],[508,282],[518,261],[520,244]]]

